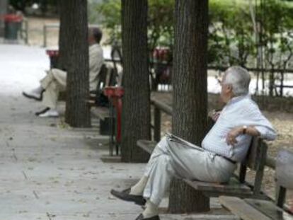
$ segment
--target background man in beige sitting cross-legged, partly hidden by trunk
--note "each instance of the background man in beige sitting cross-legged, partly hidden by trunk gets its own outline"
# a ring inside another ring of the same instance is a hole
[[[98,83],[98,74],[103,65],[103,50],[100,46],[102,39],[102,31],[99,28],[91,28],[88,30],[89,44],[89,86],[90,91],[96,90]],[[50,69],[47,76],[40,81],[40,86],[32,91],[23,92],[26,98],[42,100],[45,106],[44,110],[36,112],[39,117],[58,117],[57,100],[59,91],[66,90],[67,72],[61,69]]]

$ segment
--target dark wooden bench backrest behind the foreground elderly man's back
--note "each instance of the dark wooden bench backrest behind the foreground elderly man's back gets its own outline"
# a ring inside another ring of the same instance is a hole
[[[239,180],[241,183],[244,183],[246,180],[247,168],[255,171],[254,183],[252,184],[253,193],[255,195],[260,193],[267,151],[268,145],[263,141],[263,139],[260,139],[260,137],[253,137],[251,145],[248,149],[248,154],[240,166]]]

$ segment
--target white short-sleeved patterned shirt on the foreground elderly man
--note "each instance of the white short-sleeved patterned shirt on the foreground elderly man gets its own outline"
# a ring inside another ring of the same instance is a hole
[[[238,141],[234,146],[226,144],[226,135],[234,127],[254,126],[263,139],[273,140],[276,132],[270,122],[260,112],[258,105],[251,100],[250,95],[232,98],[224,107],[217,122],[202,141],[202,147],[207,151],[242,161],[251,143],[251,136],[241,134],[236,137]]]

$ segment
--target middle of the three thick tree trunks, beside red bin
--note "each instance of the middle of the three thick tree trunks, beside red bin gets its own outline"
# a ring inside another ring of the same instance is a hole
[[[146,162],[137,146],[150,138],[147,0],[122,0],[123,85],[121,155],[124,162]]]

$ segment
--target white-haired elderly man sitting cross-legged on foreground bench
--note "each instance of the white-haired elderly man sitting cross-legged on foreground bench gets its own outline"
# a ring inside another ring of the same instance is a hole
[[[137,219],[159,219],[159,204],[174,176],[190,180],[226,183],[248,152],[253,136],[273,140],[275,130],[248,95],[251,76],[246,69],[232,66],[224,73],[221,98],[226,106],[214,114],[215,124],[195,146],[173,134],[156,145],[139,182],[111,193],[146,209]]]

